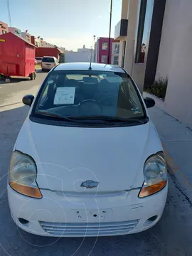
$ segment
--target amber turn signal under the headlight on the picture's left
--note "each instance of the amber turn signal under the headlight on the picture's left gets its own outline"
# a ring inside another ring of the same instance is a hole
[[[25,196],[30,196],[32,198],[42,198],[42,194],[41,191],[39,190],[39,188],[33,188],[30,186],[24,186],[15,182],[10,182],[9,185],[11,186],[11,188],[14,189],[14,191],[21,193]]]

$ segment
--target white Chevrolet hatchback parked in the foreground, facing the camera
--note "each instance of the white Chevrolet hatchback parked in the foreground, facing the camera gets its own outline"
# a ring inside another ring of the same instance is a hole
[[[102,75],[103,79],[100,79]],[[164,211],[164,151],[132,78],[113,65],[60,64],[48,73],[14,146],[11,216],[28,233],[138,233]]]

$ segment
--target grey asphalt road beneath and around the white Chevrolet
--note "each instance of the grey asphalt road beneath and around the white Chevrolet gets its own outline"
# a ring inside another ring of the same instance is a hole
[[[169,196],[158,224],[135,235],[109,238],[43,238],[19,230],[11,220],[6,194],[11,150],[28,107],[21,99],[36,94],[46,77],[38,73],[34,81],[0,81],[0,256],[4,255],[110,255],[110,256],[192,256],[192,205],[169,177]]]

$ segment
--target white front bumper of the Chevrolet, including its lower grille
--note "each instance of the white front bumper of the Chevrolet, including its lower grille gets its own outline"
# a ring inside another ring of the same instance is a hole
[[[54,237],[142,232],[161,218],[167,191],[168,185],[159,193],[138,198],[139,190],[84,196],[41,190],[43,198],[35,199],[22,196],[8,186],[11,216],[16,225],[28,233]]]

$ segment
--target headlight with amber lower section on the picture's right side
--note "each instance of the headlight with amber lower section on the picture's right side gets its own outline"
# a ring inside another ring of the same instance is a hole
[[[149,157],[144,164],[144,185],[139,192],[139,198],[150,196],[166,186],[167,168],[164,154]]]

